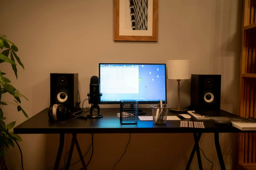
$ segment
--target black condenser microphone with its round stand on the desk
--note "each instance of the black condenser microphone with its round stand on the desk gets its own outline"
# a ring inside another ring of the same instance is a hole
[[[103,116],[100,114],[100,96],[102,96],[102,93],[100,93],[100,84],[99,84],[99,78],[97,76],[91,77],[90,80],[90,92],[87,94],[89,97],[89,104],[92,104],[90,108],[90,114],[87,115],[87,118],[102,118]],[[94,110],[97,109],[97,111]],[[93,114],[94,112],[97,112],[97,115]]]

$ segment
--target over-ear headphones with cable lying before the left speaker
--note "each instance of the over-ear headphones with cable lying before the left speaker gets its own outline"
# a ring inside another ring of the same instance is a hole
[[[79,103],[79,102],[78,102]],[[84,119],[87,119],[87,117],[84,117],[84,116],[77,116],[76,114],[78,113],[81,113],[82,112],[82,109],[80,108],[79,104],[77,105],[78,108],[80,109],[79,111],[73,113],[73,116],[75,118],[72,118],[70,120],[73,120],[73,119],[76,119],[76,118],[84,118]],[[66,108],[65,105],[63,104],[54,104],[53,106],[50,106],[49,107],[49,110],[48,110],[48,116],[49,116],[49,119],[51,120],[54,120],[58,123],[65,123],[65,122],[68,122],[70,120],[68,120],[70,118],[70,115],[71,115],[71,112],[70,110],[68,110]],[[63,121],[63,120],[66,120],[66,121]],[[61,122],[60,122],[61,121]]]

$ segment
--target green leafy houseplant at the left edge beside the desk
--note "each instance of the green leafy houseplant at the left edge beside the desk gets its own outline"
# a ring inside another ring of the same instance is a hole
[[[2,52],[0,53],[0,63],[7,62],[11,64],[17,79],[18,78],[17,67],[16,67],[17,64],[15,63],[14,57],[18,62],[18,64],[21,65],[23,69],[24,69],[24,65],[22,64],[20,58],[15,53],[18,51],[18,48],[15,46],[13,42],[11,42],[6,38],[7,37],[5,35],[0,34],[0,48],[2,50]],[[9,43],[11,44],[11,46],[9,45]],[[9,54],[10,54],[10,58],[9,58]],[[11,81],[8,78],[6,78],[6,76],[4,75],[7,75],[7,74],[2,72],[0,68],[0,167],[2,170],[8,169],[5,161],[5,153],[9,149],[9,146],[14,147],[14,142],[18,145],[17,141],[22,141],[19,135],[13,134],[13,132],[10,132],[10,129],[14,127],[16,121],[10,122],[9,124],[5,125],[4,120],[6,120],[6,117],[4,117],[3,115],[2,107],[8,104],[16,105],[18,112],[22,111],[22,113],[26,116],[26,118],[28,118],[26,112],[21,107],[20,97],[22,98],[24,97],[26,100],[28,99],[24,95],[22,95],[17,89],[15,89],[12,85],[10,85],[9,83],[11,83]],[[13,100],[15,103],[2,101],[1,98],[4,93],[9,93],[10,95],[12,95],[14,97]]]

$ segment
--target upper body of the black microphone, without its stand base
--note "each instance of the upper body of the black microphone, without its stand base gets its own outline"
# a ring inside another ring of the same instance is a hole
[[[89,104],[99,104],[100,103],[100,84],[99,78],[97,76],[91,77],[90,80],[90,99]]]

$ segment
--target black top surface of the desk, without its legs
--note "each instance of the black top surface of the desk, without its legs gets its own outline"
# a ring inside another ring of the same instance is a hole
[[[151,108],[143,109],[147,114],[142,116],[151,116]],[[57,123],[49,121],[48,108],[45,108],[38,114],[34,115],[30,119],[21,123],[14,128],[15,134],[60,134],[60,133],[242,133],[247,131],[241,131],[235,127],[223,127],[217,126],[212,120],[196,120],[195,118],[183,119],[187,121],[203,121],[204,129],[200,128],[184,128],[180,127],[180,121],[166,121],[166,124],[155,125],[153,121],[140,121],[138,124],[122,125],[116,114],[120,111],[119,108],[101,108],[100,109],[103,118],[100,119],[74,119],[66,123]],[[87,115],[85,113],[84,115]],[[178,116],[180,113],[171,113],[168,115]],[[237,117],[234,114],[230,114],[230,117]],[[252,132],[252,131],[248,131]]]

